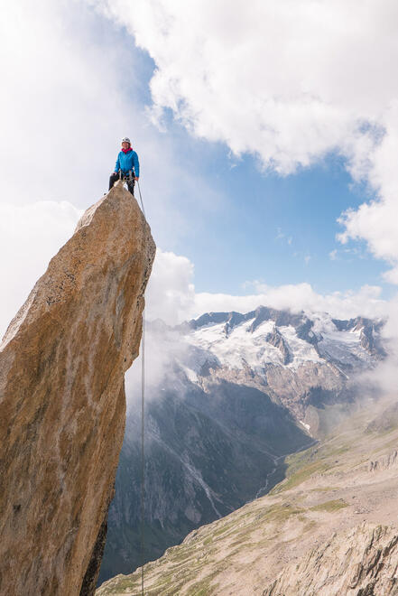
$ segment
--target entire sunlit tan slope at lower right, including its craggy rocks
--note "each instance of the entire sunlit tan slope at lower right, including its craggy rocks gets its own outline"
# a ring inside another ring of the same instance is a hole
[[[396,595],[397,450],[396,403],[367,406],[289,456],[269,495],[147,563],[145,594]],[[138,594],[140,581],[141,570],[119,575],[97,596]]]

